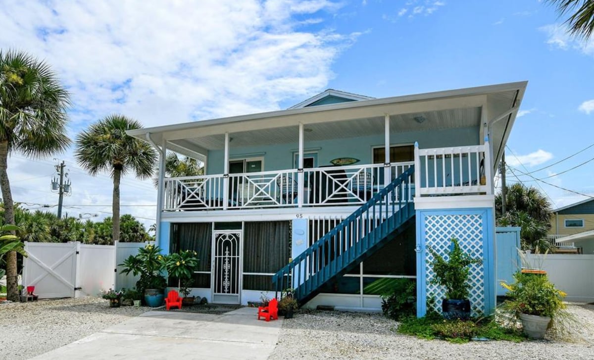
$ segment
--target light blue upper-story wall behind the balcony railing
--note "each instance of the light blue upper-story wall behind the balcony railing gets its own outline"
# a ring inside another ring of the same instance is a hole
[[[356,135],[356,134],[354,134]],[[468,146],[479,144],[479,128],[454,128],[433,131],[407,131],[390,135],[393,145],[412,145],[419,142],[421,149],[429,147]],[[340,138],[323,141],[305,141],[305,152],[318,153],[318,166],[331,165],[330,160],[337,157],[354,157],[360,164],[372,163],[372,149],[384,146],[384,135]],[[258,147],[233,147],[230,144],[229,158],[264,157],[264,171],[293,169],[293,154],[298,151],[297,130],[295,143],[275,144]],[[207,174],[223,173],[225,153],[223,150],[208,151]]]

